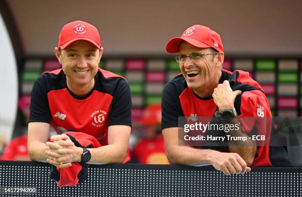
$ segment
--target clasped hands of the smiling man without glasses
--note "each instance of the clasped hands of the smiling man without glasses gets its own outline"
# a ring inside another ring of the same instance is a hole
[[[66,134],[51,136],[51,142],[46,142],[49,148],[44,153],[48,156],[47,162],[58,168],[67,168],[72,162],[78,161],[80,154],[75,144]]]

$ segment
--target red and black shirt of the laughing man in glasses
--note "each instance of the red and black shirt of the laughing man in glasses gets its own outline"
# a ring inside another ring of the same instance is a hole
[[[219,83],[228,80],[233,90],[240,89],[242,94],[235,99],[235,109],[239,117],[271,117],[269,103],[263,88],[249,77],[248,72],[222,69]],[[235,89],[233,88],[235,87]],[[261,109],[261,113],[260,113]],[[162,129],[178,127],[178,117],[213,117],[218,110],[212,96],[201,98],[187,85],[186,79],[179,75],[169,81],[162,93]],[[263,118],[264,119],[264,118]],[[265,123],[267,130],[271,130],[271,122]],[[261,135],[262,124],[256,124],[258,135]],[[251,125],[241,125],[242,132],[249,134]],[[254,123],[252,127],[254,126]],[[255,130],[254,130],[255,131]],[[254,132],[253,131],[253,132]],[[263,133],[269,136],[270,133]],[[225,152],[228,152],[226,147]],[[252,166],[271,166],[269,147],[259,146]]]

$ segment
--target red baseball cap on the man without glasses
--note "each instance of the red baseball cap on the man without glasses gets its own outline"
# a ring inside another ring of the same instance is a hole
[[[66,24],[59,35],[58,48],[62,50],[77,40],[86,40],[101,50],[99,31],[93,25],[84,21],[74,21]]]

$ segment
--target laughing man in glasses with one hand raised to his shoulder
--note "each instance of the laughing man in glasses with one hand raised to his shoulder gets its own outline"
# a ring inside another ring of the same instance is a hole
[[[257,146],[249,138],[252,129],[248,126],[227,133],[232,137],[246,137],[240,146],[180,146],[189,142],[182,136],[184,132],[178,135],[178,117],[191,120],[217,117],[223,125],[235,125],[239,123],[237,117],[265,119],[271,117],[271,112],[263,88],[247,72],[231,73],[222,69],[223,43],[220,35],[210,28],[193,25],[181,37],[170,39],[166,50],[179,53],[175,59],[182,73],[165,85],[162,94],[162,133],[170,163],[213,165],[227,175],[248,172],[251,170],[248,166],[271,166],[269,147]],[[255,126],[257,134],[264,132],[268,136],[271,124],[260,125],[253,122],[252,128]]]

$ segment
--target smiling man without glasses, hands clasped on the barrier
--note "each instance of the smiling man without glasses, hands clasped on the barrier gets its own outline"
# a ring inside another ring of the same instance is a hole
[[[83,21],[63,27],[55,47],[62,69],[43,73],[32,90],[28,126],[32,160],[58,168],[70,167],[72,162],[129,160],[130,88],[123,77],[98,68],[102,54],[96,27]],[[47,142],[50,125],[59,135]],[[65,131],[92,135],[102,146],[76,147],[62,134]]]

